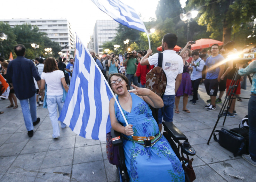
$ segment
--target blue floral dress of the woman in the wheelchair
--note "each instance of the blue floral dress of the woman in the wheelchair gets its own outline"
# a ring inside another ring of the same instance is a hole
[[[149,105],[134,93],[130,94],[133,100],[131,112],[123,109],[122,111],[127,122],[133,125],[134,136],[157,135],[159,132],[158,124],[152,116]],[[115,103],[114,106],[116,118],[125,126],[125,120],[117,104]],[[126,137],[132,139],[131,136]],[[152,147],[144,147],[133,141],[123,139],[123,148],[130,181],[185,181],[181,162],[165,137],[162,136]]]

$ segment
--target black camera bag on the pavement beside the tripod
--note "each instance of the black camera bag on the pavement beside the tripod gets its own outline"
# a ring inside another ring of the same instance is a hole
[[[215,134],[218,133],[218,134]],[[217,135],[219,138],[217,139]],[[222,128],[221,130],[215,130],[213,139],[217,141],[222,147],[231,151],[234,157],[246,153],[245,138],[241,135]]]

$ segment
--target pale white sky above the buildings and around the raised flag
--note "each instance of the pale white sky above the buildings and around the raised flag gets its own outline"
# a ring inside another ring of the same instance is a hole
[[[121,0],[141,14],[144,22],[155,17],[159,0]],[[186,0],[180,0],[184,3]],[[10,3],[11,2],[11,3]],[[184,5],[183,5],[184,6]],[[73,32],[87,44],[97,19],[112,19],[90,0],[3,0],[1,19],[67,18]]]

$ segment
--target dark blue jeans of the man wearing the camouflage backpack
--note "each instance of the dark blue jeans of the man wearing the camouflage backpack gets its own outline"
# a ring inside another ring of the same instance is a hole
[[[173,122],[173,108],[175,102],[175,95],[163,95],[163,107],[158,110],[158,124],[162,120]]]

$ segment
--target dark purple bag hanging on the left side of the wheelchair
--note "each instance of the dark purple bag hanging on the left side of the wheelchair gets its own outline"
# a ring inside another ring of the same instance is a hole
[[[109,163],[119,166],[119,149],[118,146],[113,146],[111,132],[106,134],[106,143],[107,159],[109,159]]]

